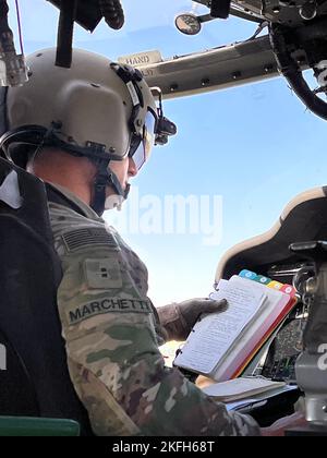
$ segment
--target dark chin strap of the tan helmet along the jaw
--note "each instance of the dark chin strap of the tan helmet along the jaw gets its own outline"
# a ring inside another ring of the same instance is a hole
[[[108,169],[110,160],[105,161],[102,160],[98,164],[98,171],[94,182],[94,196],[90,204],[90,207],[101,216],[106,208],[107,203],[107,186],[113,189],[116,193],[116,197],[112,196],[112,202],[114,204],[112,207],[117,206],[118,208],[121,207],[122,201],[125,201],[130,193],[130,184],[126,185],[126,189],[123,190],[116,173],[113,173],[110,168]]]

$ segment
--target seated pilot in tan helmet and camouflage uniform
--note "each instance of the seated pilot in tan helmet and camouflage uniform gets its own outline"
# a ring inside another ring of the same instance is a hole
[[[55,49],[34,53],[29,82],[9,88],[1,145],[46,182],[68,366],[94,433],[259,434],[251,417],[228,412],[166,367],[158,348],[185,339],[199,313],[222,311],[226,301],[156,310],[145,265],[101,218],[126,198],[130,179],[162,134],[149,88],[140,72],[94,53],[74,50],[71,69],[55,60]]]

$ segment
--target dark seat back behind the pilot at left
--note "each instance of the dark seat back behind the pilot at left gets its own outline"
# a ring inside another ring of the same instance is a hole
[[[2,158],[0,266],[0,415],[70,419],[92,434],[68,372],[45,185]]]

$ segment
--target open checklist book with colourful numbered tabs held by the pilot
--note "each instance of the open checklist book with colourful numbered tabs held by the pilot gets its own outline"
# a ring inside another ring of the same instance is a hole
[[[216,382],[240,376],[296,303],[291,286],[249,270],[220,280],[210,298],[227,299],[228,310],[202,316],[173,364]]]

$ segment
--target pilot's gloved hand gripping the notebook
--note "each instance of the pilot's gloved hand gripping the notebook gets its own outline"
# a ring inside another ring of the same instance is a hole
[[[157,309],[160,325],[168,334],[168,340],[186,340],[193,326],[202,313],[221,313],[228,303],[211,299],[191,299],[181,303],[172,303]]]

